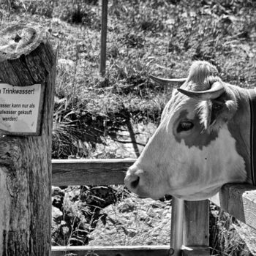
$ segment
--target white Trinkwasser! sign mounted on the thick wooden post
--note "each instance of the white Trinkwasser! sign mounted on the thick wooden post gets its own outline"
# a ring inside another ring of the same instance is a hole
[[[0,129],[5,134],[37,135],[41,121],[42,85],[0,83]]]

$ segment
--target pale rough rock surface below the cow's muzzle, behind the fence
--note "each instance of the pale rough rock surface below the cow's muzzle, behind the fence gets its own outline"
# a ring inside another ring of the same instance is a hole
[[[170,244],[170,203],[130,197],[100,214],[91,246]]]

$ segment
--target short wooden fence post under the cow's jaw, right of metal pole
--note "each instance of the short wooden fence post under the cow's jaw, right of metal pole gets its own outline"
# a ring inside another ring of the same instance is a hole
[[[184,256],[208,256],[209,252],[209,201],[185,201]]]

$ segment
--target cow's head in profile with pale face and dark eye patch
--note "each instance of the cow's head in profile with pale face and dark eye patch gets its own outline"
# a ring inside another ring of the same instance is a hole
[[[195,61],[181,88],[173,90],[156,132],[127,171],[126,186],[140,197],[201,200],[227,182],[244,179],[244,159],[228,127],[237,99],[216,67]]]

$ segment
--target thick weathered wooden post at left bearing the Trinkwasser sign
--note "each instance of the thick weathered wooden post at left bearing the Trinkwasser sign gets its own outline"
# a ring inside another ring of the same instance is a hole
[[[0,31],[0,255],[50,255],[55,69],[42,28]]]

